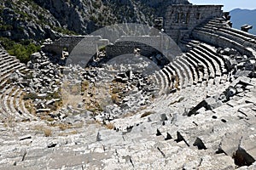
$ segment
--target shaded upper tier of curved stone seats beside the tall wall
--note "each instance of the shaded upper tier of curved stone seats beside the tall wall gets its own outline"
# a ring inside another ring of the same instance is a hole
[[[235,29],[231,29],[221,21],[214,23],[212,20],[208,20],[207,23],[197,26],[192,31],[192,36],[203,42],[209,42],[216,47],[236,48],[241,54],[253,57],[256,49],[255,37],[246,37],[244,36],[248,35],[246,33],[239,35]]]

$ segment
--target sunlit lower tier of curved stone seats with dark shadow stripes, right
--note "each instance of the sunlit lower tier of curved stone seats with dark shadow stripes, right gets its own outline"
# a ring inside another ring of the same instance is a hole
[[[217,54],[216,48],[195,41],[187,42],[193,48],[178,56],[162,70],[155,71],[153,82],[160,88],[160,95],[170,94],[177,89],[191,86],[207,86],[228,81],[227,65],[224,58]],[[209,80],[213,81],[209,81]]]

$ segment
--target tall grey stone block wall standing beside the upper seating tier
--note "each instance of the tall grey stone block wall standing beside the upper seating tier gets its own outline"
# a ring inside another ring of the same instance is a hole
[[[223,5],[172,5],[167,8],[164,30],[175,42],[195,26],[212,17],[222,17]]]

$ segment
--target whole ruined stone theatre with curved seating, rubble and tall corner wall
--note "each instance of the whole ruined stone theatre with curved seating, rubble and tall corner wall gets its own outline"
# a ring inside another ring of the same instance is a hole
[[[0,169],[256,169],[256,36],[221,8],[168,7],[163,28],[183,54],[155,57],[163,68],[148,77],[63,66],[47,51],[23,65],[1,48]],[[72,53],[79,38],[45,47]],[[96,82],[113,73],[102,108]]]

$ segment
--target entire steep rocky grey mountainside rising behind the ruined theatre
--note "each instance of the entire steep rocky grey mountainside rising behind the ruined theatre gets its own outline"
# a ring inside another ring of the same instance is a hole
[[[152,25],[170,4],[187,0],[0,0],[0,37],[14,40],[89,34],[102,26],[130,22]],[[59,32],[59,33],[57,33]],[[61,34],[60,34],[61,33]]]

